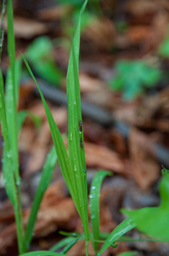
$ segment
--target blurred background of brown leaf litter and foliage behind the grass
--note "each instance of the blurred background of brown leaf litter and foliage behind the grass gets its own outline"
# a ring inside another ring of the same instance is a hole
[[[14,0],[16,57],[20,52],[25,55],[62,134],[68,129],[66,70],[82,3]],[[122,207],[155,207],[160,202],[161,165],[169,168],[168,25],[168,0],[89,0],[82,15],[79,79],[88,186],[98,170],[114,172],[102,188],[102,232],[110,232],[124,219]],[[6,31],[6,18],[4,26]],[[6,33],[0,65],[5,79],[9,65]],[[53,142],[42,101],[25,65],[19,109],[33,116],[25,119],[19,143],[26,223]],[[2,136],[0,142],[2,159]],[[48,250],[63,237],[59,230],[82,231],[82,226],[57,166],[38,214],[31,251]],[[137,230],[130,235],[140,237]],[[129,250],[137,250],[140,256],[166,256],[169,245],[119,243],[104,256]],[[89,253],[93,255],[92,249]],[[82,241],[69,254],[85,255]],[[0,255],[17,255],[14,211],[5,194],[1,163]]]

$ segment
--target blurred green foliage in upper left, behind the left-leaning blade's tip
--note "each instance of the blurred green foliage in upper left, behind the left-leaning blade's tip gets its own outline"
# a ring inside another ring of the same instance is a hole
[[[58,86],[64,74],[54,63],[54,47],[48,37],[36,38],[25,53],[37,75]]]

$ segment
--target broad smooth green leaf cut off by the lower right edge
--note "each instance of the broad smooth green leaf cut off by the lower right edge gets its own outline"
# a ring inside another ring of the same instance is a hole
[[[169,240],[169,175],[166,174],[160,183],[161,205],[146,207],[136,211],[122,210],[130,218],[134,218],[137,229],[144,234]]]

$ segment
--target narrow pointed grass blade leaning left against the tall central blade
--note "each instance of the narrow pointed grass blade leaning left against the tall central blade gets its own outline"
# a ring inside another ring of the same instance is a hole
[[[37,84],[37,81],[36,81],[33,73],[31,72],[31,68],[29,67],[29,64],[27,63],[27,61],[25,60],[24,55],[23,55],[23,59],[25,61],[25,66],[28,68],[28,71],[31,73],[32,79],[34,79],[35,83]],[[70,173],[70,163],[69,163],[68,154],[67,154],[67,151],[66,151],[66,148],[65,148],[65,144],[64,144],[63,139],[60,135],[58,126],[54,122],[54,118],[52,116],[52,113],[50,112],[50,110],[48,108],[47,102],[45,101],[45,99],[42,95],[42,91],[40,90],[40,87],[39,87],[38,84],[37,84],[37,88],[38,88],[38,90],[40,92],[40,95],[42,97],[42,103],[43,103],[43,106],[45,108],[45,112],[47,114],[48,124],[49,124],[50,131],[51,131],[53,141],[54,141],[54,147],[56,149],[56,154],[58,155],[59,166],[60,166],[61,172],[63,174],[63,177],[65,178],[65,183],[67,184],[68,189],[70,190],[70,195],[72,196],[73,201],[75,202],[76,208],[77,208],[77,211],[78,211],[78,205],[76,203],[76,196],[75,196],[76,191],[75,191],[75,188],[72,184],[72,177],[71,177],[71,173]]]

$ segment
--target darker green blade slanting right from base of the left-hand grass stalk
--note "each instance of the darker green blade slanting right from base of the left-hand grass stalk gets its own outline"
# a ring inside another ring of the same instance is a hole
[[[33,228],[34,228],[34,225],[35,225],[35,222],[37,219],[37,212],[38,212],[40,204],[42,202],[42,197],[51,181],[51,177],[53,175],[54,167],[56,166],[56,162],[57,162],[57,155],[56,155],[55,148],[53,147],[53,148],[51,148],[51,150],[47,156],[45,165],[43,166],[41,181],[38,184],[37,192],[36,192],[36,195],[35,195],[33,203],[32,203],[31,214],[30,214],[28,224],[26,227],[26,232],[25,232],[25,247],[26,247],[26,249],[28,249],[30,247]]]

